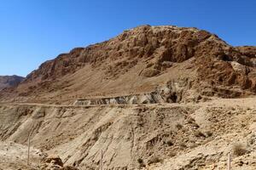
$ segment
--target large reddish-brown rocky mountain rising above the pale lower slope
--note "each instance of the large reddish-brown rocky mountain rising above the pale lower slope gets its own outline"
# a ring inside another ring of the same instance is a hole
[[[256,92],[255,54],[254,47],[231,47],[195,28],[139,26],[45,62],[1,100],[141,94],[180,79],[203,95],[237,97]]]

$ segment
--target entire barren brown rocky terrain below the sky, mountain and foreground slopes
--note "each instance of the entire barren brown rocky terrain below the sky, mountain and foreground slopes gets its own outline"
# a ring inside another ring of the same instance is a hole
[[[256,47],[138,26],[14,84],[0,92],[0,169],[212,170],[229,155],[256,168]]]

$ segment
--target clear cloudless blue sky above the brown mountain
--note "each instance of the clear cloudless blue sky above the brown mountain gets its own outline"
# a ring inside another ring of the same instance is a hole
[[[255,0],[0,0],[0,75],[26,76],[48,59],[139,25],[198,27],[256,45]]]

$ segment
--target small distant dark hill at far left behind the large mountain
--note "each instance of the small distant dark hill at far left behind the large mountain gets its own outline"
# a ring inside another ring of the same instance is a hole
[[[18,77],[18,76],[0,76],[0,91],[3,88],[12,88],[16,87],[25,79],[25,77]]]

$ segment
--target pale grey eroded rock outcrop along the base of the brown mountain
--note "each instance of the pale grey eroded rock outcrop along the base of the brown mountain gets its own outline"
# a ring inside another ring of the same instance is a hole
[[[201,99],[200,94],[189,91],[188,80],[177,80],[177,82],[167,82],[166,85],[155,88],[148,94],[129,94],[123,96],[77,99],[73,105],[141,105],[141,104],[164,104],[197,102]],[[204,97],[204,99],[207,99]]]

